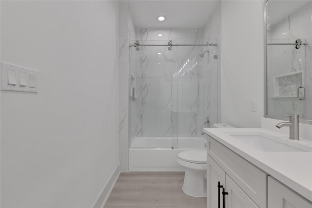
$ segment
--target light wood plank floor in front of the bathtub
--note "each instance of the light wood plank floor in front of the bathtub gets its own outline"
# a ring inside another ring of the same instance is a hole
[[[120,173],[104,208],[206,208],[182,190],[184,172]]]

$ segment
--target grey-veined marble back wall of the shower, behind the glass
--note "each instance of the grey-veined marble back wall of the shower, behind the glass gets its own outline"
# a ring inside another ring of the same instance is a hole
[[[157,36],[159,33],[162,37]],[[169,39],[179,44],[208,40],[202,39],[200,28],[144,28],[136,29],[136,36],[140,44],[166,44]],[[213,76],[217,67],[212,56],[216,49],[199,57],[207,49],[206,46],[173,47],[172,51],[166,46],[140,47],[139,51],[130,48],[131,72],[136,76],[138,92],[136,101],[131,102],[132,138],[201,136],[204,120],[211,112],[211,85],[207,82],[216,80]]]

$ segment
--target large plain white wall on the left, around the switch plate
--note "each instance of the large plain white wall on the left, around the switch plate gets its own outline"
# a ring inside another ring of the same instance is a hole
[[[108,20],[109,19],[109,20]],[[1,1],[1,207],[92,207],[118,165],[117,2]]]

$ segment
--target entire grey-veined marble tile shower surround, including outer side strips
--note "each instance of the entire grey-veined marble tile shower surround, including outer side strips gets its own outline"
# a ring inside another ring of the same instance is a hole
[[[128,171],[129,143],[134,137],[198,137],[207,116],[212,123],[220,117],[216,102],[219,99],[216,92],[219,60],[212,56],[218,54],[217,47],[212,47],[211,53],[203,58],[198,55],[207,47],[179,47],[172,51],[167,47],[141,47],[139,51],[128,47],[134,40],[141,44],[167,44],[170,39],[178,43],[206,43],[207,38],[211,38],[209,42],[218,41],[212,38],[220,38],[220,4],[207,22],[204,28],[194,29],[135,29],[129,5],[119,3],[119,160],[122,172]],[[157,57],[157,53],[161,53],[161,57]],[[136,87],[134,101],[130,99],[132,83]]]

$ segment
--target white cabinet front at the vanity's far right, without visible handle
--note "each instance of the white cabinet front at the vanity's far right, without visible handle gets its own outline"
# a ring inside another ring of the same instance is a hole
[[[273,177],[268,177],[269,208],[312,208],[312,203],[292,189],[281,184]]]

